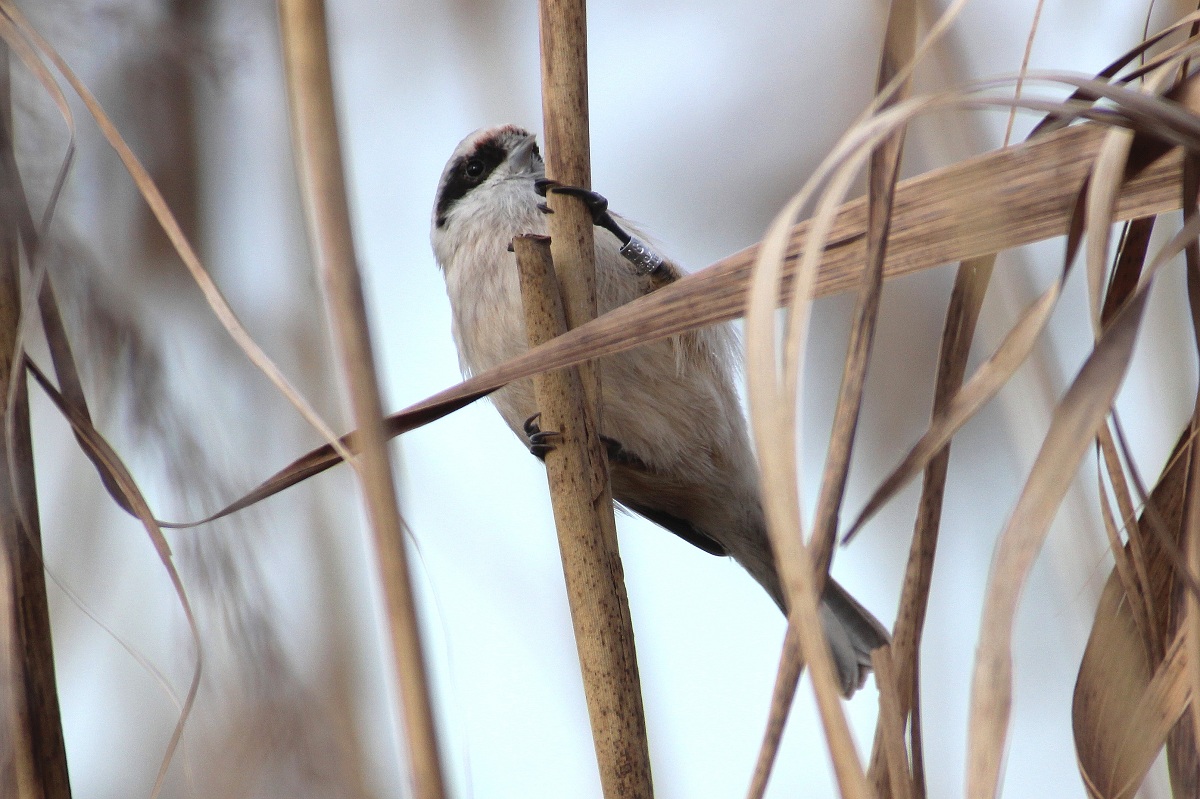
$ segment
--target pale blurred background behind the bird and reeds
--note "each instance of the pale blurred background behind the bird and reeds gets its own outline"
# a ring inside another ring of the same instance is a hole
[[[164,186],[260,344],[335,428],[346,416],[292,173],[275,8],[264,0],[22,4]],[[944,2],[926,2],[926,24]],[[1032,67],[1094,73],[1142,38],[1146,2],[1049,0]],[[886,4],[593,2],[594,186],[698,269],[756,241],[870,97]],[[1159,2],[1151,30],[1187,12]],[[974,0],[920,90],[1014,74],[1032,0]],[[428,246],[442,167],[474,128],[540,130],[534,2],[330,0],[342,140],[385,379],[400,409],[460,379]],[[14,67],[18,149],[41,206],[66,144]],[[234,348],[74,104],[79,152],[50,268],[88,353],[101,427],[158,516],[194,518],[319,444]],[[1018,121],[1018,136],[1032,118]],[[908,139],[906,174],[998,146],[1006,116],[943,114]],[[974,360],[1060,268],[1061,242],[1001,258]],[[847,509],[928,421],[953,269],[890,283]],[[1190,413],[1196,367],[1180,274],[1165,276],[1122,408],[1153,479]],[[816,492],[852,299],[816,306],[804,422]],[[955,439],[923,659],[932,797],[962,792],[971,665],[995,537],[1055,398],[1090,343],[1076,275],[1050,342]],[[40,397],[38,397],[40,400]],[[35,440],[70,768],[84,799],[144,797],[194,648],[140,527],[103,494],[40,402]],[[541,465],[480,402],[394,449],[456,797],[596,797]],[[1070,696],[1110,569],[1088,459],[1025,594],[1004,792],[1082,795]],[[917,492],[834,573],[890,626]],[[811,509],[811,501],[809,503]],[[204,686],[169,797],[406,795],[373,563],[344,468],[218,523],[170,534],[199,608]],[[658,795],[743,795],[784,620],[732,561],[620,517]],[[70,599],[67,591],[76,599]],[[86,612],[84,611],[86,609]],[[137,657],[128,650],[137,654]],[[138,659],[161,669],[170,692]],[[869,751],[872,684],[848,704]],[[772,797],[834,795],[806,683]],[[1156,782],[1157,781],[1157,782]],[[1154,793],[1160,777],[1152,777]]]

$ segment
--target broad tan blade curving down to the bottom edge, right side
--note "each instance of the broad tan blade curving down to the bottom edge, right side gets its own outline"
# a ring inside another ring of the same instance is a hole
[[[1193,220],[1164,247],[1142,284],[1114,316],[1055,409],[1042,449],[1001,533],[984,596],[979,649],[971,687],[967,795],[995,795],[1012,703],[1012,633],[1025,578],[1066,495],[1088,443],[1112,407],[1158,268],[1200,234]]]

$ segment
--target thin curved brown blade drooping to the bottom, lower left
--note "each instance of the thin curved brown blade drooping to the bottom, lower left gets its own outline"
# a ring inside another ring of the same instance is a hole
[[[150,505],[142,494],[142,489],[138,488],[137,482],[133,480],[133,475],[130,474],[125,463],[103,438],[92,435],[95,428],[91,426],[91,422],[83,419],[77,409],[62,402],[62,396],[54,390],[49,379],[47,379],[47,377],[32,361],[26,359],[25,368],[29,370],[29,373],[34,376],[37,384],[54,402],[54,405],[59,409],[59,413],[62,414],[64,419],[70,422],[71,427],[74,429],[76,437],[88,447],[90,452],[89,457],[91,457],[92,463],[95,463],[97,468],[103,468],[109,474],[113,483],[116,485],[125,495],[125,501],[133,510],[133,515],[142,522],[142,525],[146,530],[146,535],[150,537],[150,542],[158,553],[158,559],[162,561],[163,569],[167,571],[172,587],[175,589],[175,596],[179,597],[180,607],[184,611],[184,615],[187,618],[188,631],[191,632],[192,641],[196,644],[196,668],[192,671],[192,683],[187,690],[187,697],[184,699],[184,705],[179,714],[179,721],[175,723],[175,729],[167,744],[162,764],[158,767],[158,775],[155,779],[155,785],[150,793],[151,797],[157,797],[162,792],[163,781],[167,779],[167,769],[170,767],[170,762],[175,756],[175,750],[179,747],[179,741],[184,735],[184,728],[187,723],[187,719],[192,713],[192,707],[196,704],[196,693],[200,687],[204,649],[200,643],[199,625],[197,624],[196,615],[192,612],[192,605],[187,600],[187,591],[184,588],[184,582],[180,578],[179,571],[175,569],[175,564],[172,559],[170,545],[167,542],[158,523],[155,522],[154,512],[150,510]]]

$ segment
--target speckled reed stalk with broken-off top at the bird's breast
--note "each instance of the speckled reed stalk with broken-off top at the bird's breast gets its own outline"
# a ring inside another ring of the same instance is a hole
[[[512,241],[529,346],[566,330],[566,316],[544,236]],[[650,759],[637,662],[620,582],[612,503],[596,498],[592,464],[604,462],[600,433],[584,413],[575,368],[539,374],[534,394],[545,431],[557,432],[546,477],[563,555],[566,597],[605,797],[650,797]]]

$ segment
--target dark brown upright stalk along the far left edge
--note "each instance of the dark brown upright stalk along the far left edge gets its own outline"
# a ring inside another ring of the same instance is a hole
[[[7,678],[0,684],[0,692],[7,695],[0,707],[8,708],[0,717],[6,727],[0,743],[11,744],[11,753],[0,752],[0,758],[10,761],[0,762],[0,792],[17,799],[67,799],[71,782],[42,569],[29,395],[24,374],[13,376],[13,370],[23,366],[14,362],[19,358],[20,215],[16,209],[19,194],[13,188],[17,162],[11,109],[8,48],[0,43],[0,408],[6,415],[5,434],[0,435],[0,571],[6,573],[0,584],[10,591],[0,601],[5,611],[0,657],[8,659],[0,667],[0,675]]]

